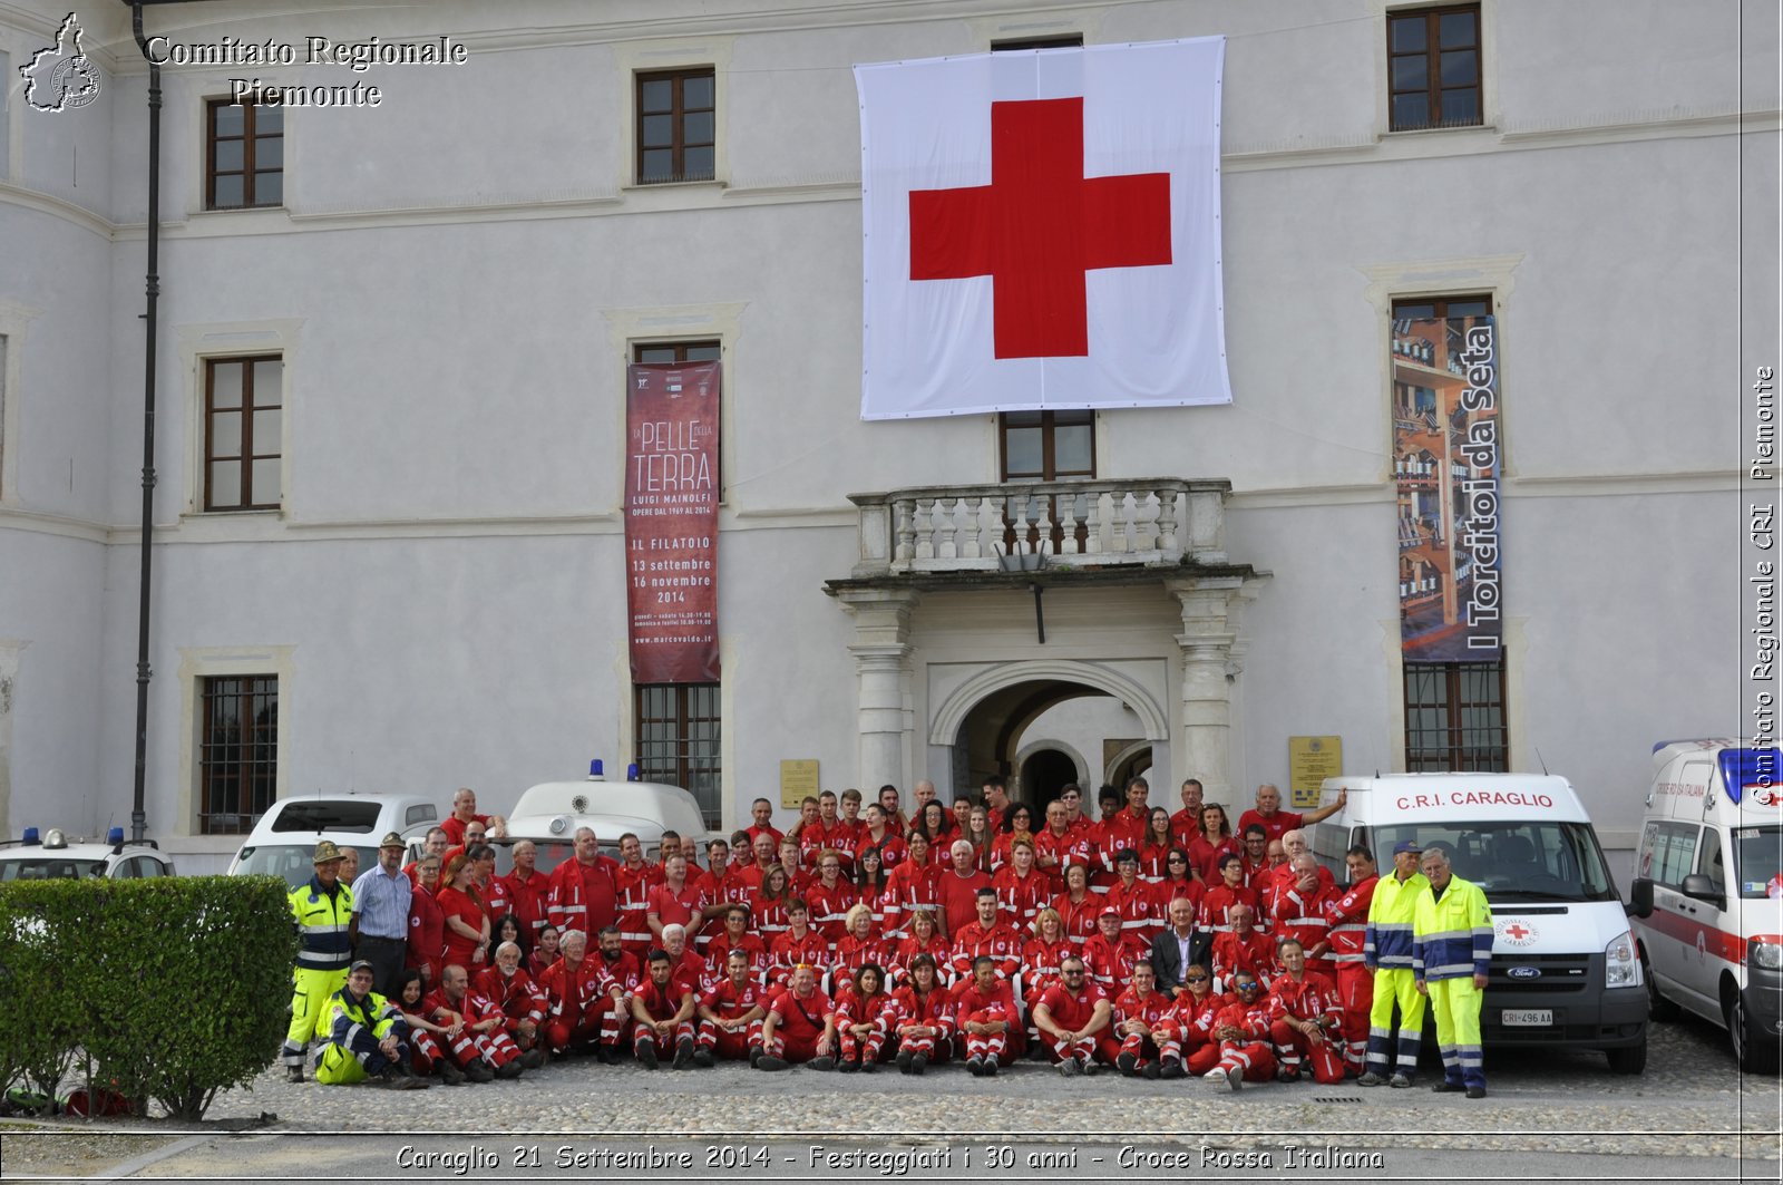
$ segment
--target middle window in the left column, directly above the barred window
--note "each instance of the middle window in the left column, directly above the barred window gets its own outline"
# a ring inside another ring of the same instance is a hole
[[[276,510],[285,362],[205,360],[205,510]]]

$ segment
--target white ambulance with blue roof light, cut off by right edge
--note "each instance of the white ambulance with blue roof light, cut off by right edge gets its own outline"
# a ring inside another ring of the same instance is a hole
[[[1653,1015],[1728,1028],[1740,1069],[1783,1042],[1783,778],[1778,750],[1660,741],[1635,849],[1635,942]]]

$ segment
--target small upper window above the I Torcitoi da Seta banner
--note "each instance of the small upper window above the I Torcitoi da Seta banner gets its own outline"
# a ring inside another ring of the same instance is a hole
[[[1485,121],[1478,4],[1387,14],[1387,107],[1394,132]]]

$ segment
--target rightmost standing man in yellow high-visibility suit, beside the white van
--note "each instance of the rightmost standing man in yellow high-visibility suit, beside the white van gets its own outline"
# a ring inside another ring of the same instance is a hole
[[[1492,908],[1480,885],[1455,876],[1441,848],[1425,853],[1423,869],[1430,891],[1419,894],[1412,917],[1412,969],[1417,990],[1430,998],[1442,1051],[1442,1081],[1432,1089],[1483,1099],[1480,1005],[1492,967]]]

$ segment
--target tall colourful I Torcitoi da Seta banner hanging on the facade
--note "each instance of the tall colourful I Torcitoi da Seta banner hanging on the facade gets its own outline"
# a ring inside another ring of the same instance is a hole
[[[1407,662],[1492,662],[1503,644],[1498,327],[1393,323],[1400,646]]]

